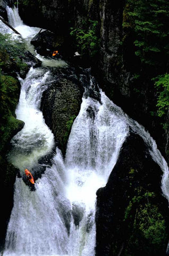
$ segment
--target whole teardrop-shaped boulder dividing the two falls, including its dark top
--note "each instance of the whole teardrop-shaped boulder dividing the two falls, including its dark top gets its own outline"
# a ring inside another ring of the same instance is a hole
[[[41,110],[46,124],[54,133],[55,141],[59,142],[65,154],[73,120],[80,110],[84,90],[80,82],[82,74],[74,68],[57,68],[50,72],[53,81],[43,93]]]

